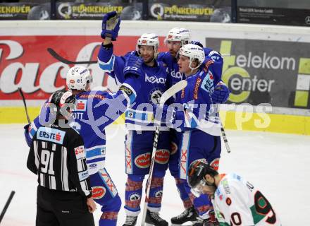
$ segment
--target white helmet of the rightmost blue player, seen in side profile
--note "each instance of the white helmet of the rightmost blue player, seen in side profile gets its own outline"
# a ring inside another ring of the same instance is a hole
[[[185,44],[180,48],[180,55],[185,57],[190,57],[190,69],[198,69],[200,65],[202,65],[202,62],[204,62],[205,54],[204,49],[202,47],[199,47],[197,44]],[[198,65],[195,68],[192,68],[191,64],[192,62],[197,59]]]

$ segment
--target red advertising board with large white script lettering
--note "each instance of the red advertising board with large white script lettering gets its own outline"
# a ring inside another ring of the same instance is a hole
[[[113,43],[114,53],[122,55],[135,50],[137,38],[118,37]],[[50,93],[66,87],[66,72],[74,66],[57,61],[46,49],[52,48],[71,61],[97,60],[101,42],[98,36],[1,36],[0,100],[20,100],[19,87],[26,99],[45,100]],[[95,85],[109,85],[97,64],[85,66],[92,71]]]

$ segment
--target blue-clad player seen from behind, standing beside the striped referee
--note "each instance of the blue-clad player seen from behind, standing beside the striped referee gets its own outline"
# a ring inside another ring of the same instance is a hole
[[[70,126],[80,133],[85,143],[92,198],[101,205],[102,214],[99,226],[116,226],[121,206],[116,186],[104,164],[106,158],[104,129],[125,112],[125,109],[135,100],[141,87],[141,65],[142,59],[139,57],[135,55],[128,57],[124,70],[125,80],[117,93],[90,90],[92,75],[83,66],[75,66],[67,73],[68,90],[76,96],[74,120],[70,120]],[[48,103],[49,101],[42,107],[39,117],[25,131],[26,141],[31,141],[33,134],[41,124],[53,120],[49,114]]]

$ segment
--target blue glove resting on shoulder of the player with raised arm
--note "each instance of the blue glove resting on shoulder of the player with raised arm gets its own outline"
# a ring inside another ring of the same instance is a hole
[[[123,71],[124,76],[126,76],[128,73],[133,73],[138,77],[142,76],[143,59],[141,57],[138,57],[135,52],[132,52],[128,56],[128,59],[125,61],[125,67]]]

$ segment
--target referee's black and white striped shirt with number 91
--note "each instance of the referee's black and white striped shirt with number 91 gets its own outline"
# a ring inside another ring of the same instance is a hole
[[[92,196],[82,137],[72,128],[61,128],[58,120],[39,127],[32,139],[27,167],[46,189],[77,191]]]

